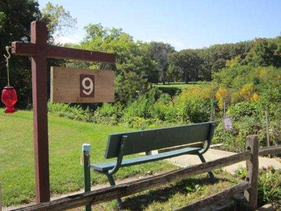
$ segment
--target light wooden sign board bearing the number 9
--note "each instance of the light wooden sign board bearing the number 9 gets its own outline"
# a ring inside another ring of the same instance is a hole
[[[52,66],[51,102],[114,102],[114,72]]]

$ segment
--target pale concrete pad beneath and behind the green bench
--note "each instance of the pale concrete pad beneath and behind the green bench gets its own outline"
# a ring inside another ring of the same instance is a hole
[[[234,155],[234,154],[236,154],[236,153],[222,151],[222,150],[218,150],[218,149],[209,149],[206,153],[203,154],[203,156],[204,156],[205,160],[208,162],[208,161],[213,161],[213,160],[227,157],[227,156]],[[174,164],[185,166],[185,167],[202,163],[200,161],[199,157],[196,155],[181,155],[179,157],[169,158],[166,160],[168,162],[172,162]],[[223,169],[234,174],[235,170],[237,168],[239,168],[239,166],[246,167],[246,161],[237,162],[233,165],[226,166]],[[275,160],[274,158],[259,157],[259,168],[268,167],[268,166],[273,166],[275,169],[281,169],[281,163],[278,162],[277,160]]]

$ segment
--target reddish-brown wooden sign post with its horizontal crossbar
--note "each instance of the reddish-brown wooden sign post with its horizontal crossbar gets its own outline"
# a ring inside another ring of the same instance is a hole
[[[12,53],[31,56],[36,202],[50,200],[47,122],[47,58],[115,63],[115,55],[47,46],[45,22],[31,22],[31,43],[12,43]],[[95,79],[96,81],[98,79]],[[89,86],[86,84],[85,86]]]

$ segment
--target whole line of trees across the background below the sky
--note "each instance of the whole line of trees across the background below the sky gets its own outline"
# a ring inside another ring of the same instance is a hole
[[[21,14],[20,16],[18,14]],[[76,19],[61,5],[48,3],[40,11],[33,0],[0,0],[0,55],[12,41],[30,41],[30,23],[33,20],[47,22],[48,44],[55,45],[54,37],[75,30]],[[117,100],[124,101],[145,93],[150,83],[173,81],[211,81],[212,74],[226,66],[237,64],[253,66],[280,66],[281,37],[258,38],[233,44],[217,44],[202,49],[176,51],[169,43],[142,42],[121,28],[106,28],[102,24],[89,24],[85,37],[78,44],[65,47],[115,53],[115,65],[82,61],[48,59],[51,65],[82,67],[115,71]],[[60,45],[60,44],[56,44]],[[11,84],[18,90],[18,105],[31,105],[31,64],[28,57],[12,56],[10,62]],[[49,77],[48,77],[49,80]],[[6,66],[0,56],[0,85],[6,85]],[[125,86],[124,84],[127,84]]]

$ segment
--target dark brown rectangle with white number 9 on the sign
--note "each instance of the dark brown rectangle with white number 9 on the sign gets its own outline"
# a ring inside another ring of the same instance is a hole
[[[94,97],[94,75],[80,75],[80,97]]]

